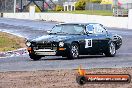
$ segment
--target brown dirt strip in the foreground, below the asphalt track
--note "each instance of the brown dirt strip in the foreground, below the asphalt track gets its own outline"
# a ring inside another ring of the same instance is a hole
[[[88,74],[130,74],[132,68],[90,69]],[[132,88],[129,84],[76,83],[77,70],[3,72],[0,73],[0,88]]]

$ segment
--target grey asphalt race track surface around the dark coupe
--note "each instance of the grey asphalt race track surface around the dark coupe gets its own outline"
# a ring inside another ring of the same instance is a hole
[[[30,21],[0,18],[0,31],[25,38],[36,38],[45,34],[56,22]],[[28,54],[0,58],[0,72],[5,71],[36,71],[56,69],[83,68],[121,68],[132,67],[132,30],[108,28],[108,31],[123,37],[123,45],[115,57],[81,56],[80,59],[66,60],[62,57],[44,57],[33,61]]]

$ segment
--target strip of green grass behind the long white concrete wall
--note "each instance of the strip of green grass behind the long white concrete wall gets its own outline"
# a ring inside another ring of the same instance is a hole
[[[72,14],[87,14],[87,15],[102,15],[112,16],[113,12],[108,10],[76,10],[76,11],[48,11],[54,13],[72,13]]]

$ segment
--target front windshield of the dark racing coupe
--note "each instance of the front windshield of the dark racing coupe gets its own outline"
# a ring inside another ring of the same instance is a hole
[[[50,32],[51,34],[82,34],[83,27],[80,25],[56,25]]]

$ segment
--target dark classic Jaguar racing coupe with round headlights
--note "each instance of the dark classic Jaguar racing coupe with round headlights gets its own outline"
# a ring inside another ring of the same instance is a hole
[[[52,55],[68,59],[98,54],[113,57],[122,45],[122,37],[98,23],[65,23],[55,25],[47,35],[27,40],[26,45],[33,60]]]

